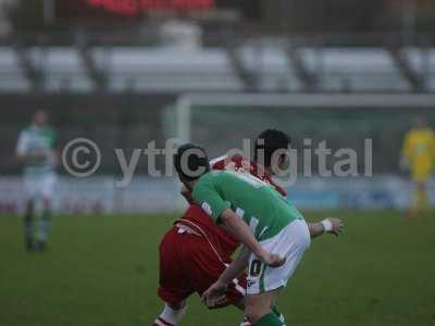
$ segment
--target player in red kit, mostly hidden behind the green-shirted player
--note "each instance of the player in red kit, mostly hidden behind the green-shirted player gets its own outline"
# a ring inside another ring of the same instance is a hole
[[[261,141],[260,141],[261,140]],[[262,131],[254,145],[254,161],[248,161],[240,155],[221,156],[211,160],[213,170],[233,170],[250,173],[261,180],[271,184],[277,192],[286,196],[286,191],[273,179],[274,168],[283,168],[286,164],[284,155],[272,166],[273,153],[289,148],[290,138],[283,131],[266,129]],[[264,158],[259,158],[262,152]],[[261,161],[264,165],[258,163]],[[264,162],[263,162],[264,161]],[[197,204],[192,204],[190,191],[182,190],[183,196],[191,204],[184,216],[174,223],[160,243],[160,287],[159,297],[165,302],[154,326],[177,325],[187,311],[186,299],[197,292],[199,296],[214,284],[219,276],[232,262],[232,255],[239,242],[226,229],[217,226]],[[328,220],[330,221],[330,220]],[[312,237],[325,231],[335,233],[339,221],[331,220],[331,229],[325,229],[322,223],[310,223]],[[213,308],[224,308],[229,304],[244,309],[246,294],[246,275],[233,280],[226,291],[226,298]],[[273,306],[275,314],[284,317]],[[243,325],[250,325],[245,322]]]

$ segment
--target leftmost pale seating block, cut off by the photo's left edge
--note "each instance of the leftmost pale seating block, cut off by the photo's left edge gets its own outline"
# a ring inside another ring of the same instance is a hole
[[[27,91],[29,88],[14,49],[0,47],[0,91]]]

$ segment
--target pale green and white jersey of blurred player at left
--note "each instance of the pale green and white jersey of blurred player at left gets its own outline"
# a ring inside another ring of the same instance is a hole
[[[40,175],[52,173],[55,164],[55,133],[52,128],[39,128],[29,126],[21,131],[16,145],[18,155],[32,155],[33,153],[44,152],[45,159],[28,160],[25,163],[25,175]]]

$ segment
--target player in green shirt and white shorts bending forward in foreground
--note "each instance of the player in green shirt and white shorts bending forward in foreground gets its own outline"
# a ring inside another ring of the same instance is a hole
[[[203,300],[210,306],[219,304],[227,284],[248,266],[246,317],[251,325],[284,325],[271,306],[295,273],[311,236],[331,231],[332,222],[325,220],[318,231],[309,228],[299,211],[269,184],[249,173],[210,171],[200,147],[181,147],[174,165],[181,181],[192,191],[194,201],[244,244]],[[341,227],[338,221],[334,233],[339,234]]]

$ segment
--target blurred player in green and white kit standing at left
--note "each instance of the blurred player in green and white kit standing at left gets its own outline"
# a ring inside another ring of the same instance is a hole
[[[16,155],[24,165],[24,190],[26,211],[24,239],[26,249],[44,250],[50,230],[51,200],[55,184],[57,163],[55,133],[48,125],[44,110],[34,113],[30,126],[23,129],[16,145]],[[37,217],[37,203],[41,214]]]

